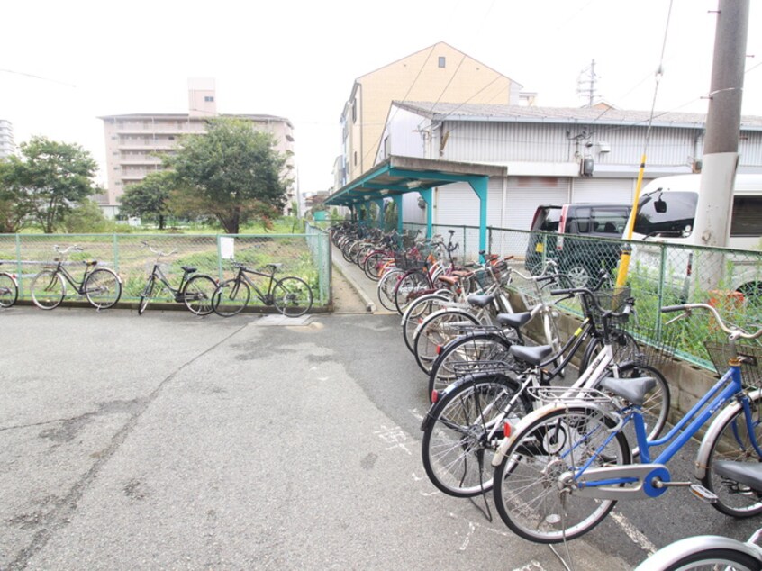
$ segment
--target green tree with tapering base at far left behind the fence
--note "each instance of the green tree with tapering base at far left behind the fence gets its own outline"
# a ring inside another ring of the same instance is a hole
[[[79,145],[44,137],[33,137],[20,150],[22,158],[10,158],[5,180],[16,193],[25,194],[29,213],[50,234],[76,204],[95,192],[97,165]]]

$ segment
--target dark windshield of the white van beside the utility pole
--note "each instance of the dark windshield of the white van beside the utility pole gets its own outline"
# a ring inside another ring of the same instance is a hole
[[[667,204],[664,212],[657,212],[655,204],[659,198]],[[644,236],[655,236],[659,233],[680,236],[685,227],[693,230],[697,200],[698,195],[694,192],[656,191],[645,195],[638,204],[634,231]]]

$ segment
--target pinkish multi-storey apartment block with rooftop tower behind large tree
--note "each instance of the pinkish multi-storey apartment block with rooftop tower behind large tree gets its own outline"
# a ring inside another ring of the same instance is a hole
[[[276,150],[286,155],[287,190],[295,196],[294,126],[284,117],[260,114],[218,114],[213,80],[188,82],[188,113],[130,113],[100,117],[104,122],[108,189],[101,204],[116,207],[124,190],[152,172],[163,170],[162,156],[172,152],[187,134],[204,133],[210,117],[235,117],[251,122],[253,129],[271,133]]]

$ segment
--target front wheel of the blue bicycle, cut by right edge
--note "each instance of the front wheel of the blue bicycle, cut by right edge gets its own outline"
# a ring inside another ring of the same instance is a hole
[[[751,405],[751,426],[757,443],[762,442],[762,412],[760,412],[760,399],[754,399]],[[746,416],[743,409],[732,414],[722,422],[720,431],[712,440],[706,472],[702,478],[702,485],[717,495],[717,502],[712,507],[734,518],[748,518],[762,512],[762,494],[752,490],[748,485],[740,484],[716,474],[712,470],[712,464],[717,460],[733,460],[735,462],[752,462],[757,464],[762,461],[757,451],[749,440],[746,428]]]

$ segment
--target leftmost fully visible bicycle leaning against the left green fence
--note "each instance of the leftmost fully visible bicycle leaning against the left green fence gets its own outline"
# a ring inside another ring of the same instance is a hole
[[[32,302],[40,309],[55,309],[67,294],[67,282],[74,287],[77,295],[84,295],[96,310],[108,309],[122,297],[122,278],[112,269],[96,267],[95,260],[84,261],[85,273],[77,280],[64,266],[64,257],[70,251],[83,251],[79,246],[59,249],[53,246],[60,258],[55,258],[55,267],[46,267],[32,278]]]

